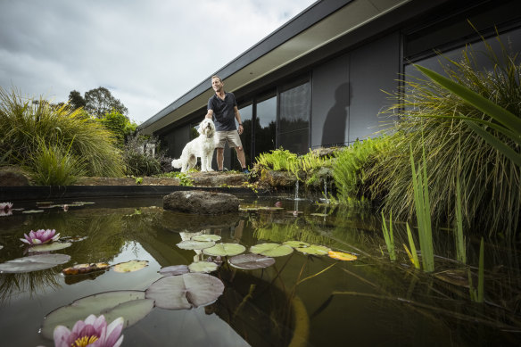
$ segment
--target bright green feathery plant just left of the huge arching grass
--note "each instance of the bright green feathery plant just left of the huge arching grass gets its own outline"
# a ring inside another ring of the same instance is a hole
[[[350,204],[352,200],[364,198],[368,187],[367,169],[389,143],[388,136],[368,138],[345,147],[337,154],[333,164],[333,178],[337,189],[336,201]]]

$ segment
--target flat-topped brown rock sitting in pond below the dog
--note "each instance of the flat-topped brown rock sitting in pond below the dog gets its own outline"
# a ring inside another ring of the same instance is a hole
[[[165,210],[194,214],[223,214],[239,211],[239,199],[232,194],[178,191],[163,196]]]

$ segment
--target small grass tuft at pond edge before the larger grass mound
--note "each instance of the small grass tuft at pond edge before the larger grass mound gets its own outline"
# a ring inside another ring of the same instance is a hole
[[[29,170],[39,186],[70,186],[85,175],[85,165],[70,153],[70,146],[47,145],[40,139]]]

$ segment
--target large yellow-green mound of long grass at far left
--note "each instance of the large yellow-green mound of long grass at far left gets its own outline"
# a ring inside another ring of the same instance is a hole
[[[62,149],[54,151],[56,147]],[[0,153],[10,153],[6,163],[34,172],[34,160],[42,149],[52,151],[60,161],[65,153],[80,158],[87,176],[122,176],[123,162],[112,134],[85,112],[71,111],[67,105],[57,107],[43,99],[34,101],[14,88],[10,92],[0,88]]]

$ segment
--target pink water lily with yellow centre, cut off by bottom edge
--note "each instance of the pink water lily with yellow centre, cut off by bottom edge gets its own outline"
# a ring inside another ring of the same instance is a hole
[[[83,320],[79,320],[70,331],[66,326],[56,326],[54,328],[54,346],[56,347],[118,347],[123,342],[123,318],[114,319],[107,326],[105,317],[101,315],[96,318],[90,315]]]

